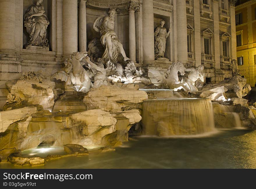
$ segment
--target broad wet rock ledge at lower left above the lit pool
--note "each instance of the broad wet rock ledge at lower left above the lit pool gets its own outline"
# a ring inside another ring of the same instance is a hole
[[[20,109],[11,111],[20,111]],[[137,109],[115,113],[92,109],[70,115],[40,115],[35,107],[31,114],[5,126],[8,129],[3,130],[0,135],[0,149],[25,150],[35,148],[41,143],[53,146],[64,144],[116,146],[128,140],[129,129],[141,120]],[[110,140],[104,140],[107,136]]]

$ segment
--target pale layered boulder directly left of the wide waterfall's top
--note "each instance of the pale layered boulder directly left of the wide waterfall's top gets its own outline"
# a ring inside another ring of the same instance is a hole
[[[147,100],[145,91],[138,90],[137,85],[124,84],[122,87],[102,85],[97,89],[91,89],[83,102],[89,109],[115,112],[141,108],[144,100]]]

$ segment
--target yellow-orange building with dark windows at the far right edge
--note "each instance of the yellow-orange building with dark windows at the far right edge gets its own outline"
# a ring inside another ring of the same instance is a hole
[[[239,73],[256,84],[256,1],[239,1],[235,8]]]

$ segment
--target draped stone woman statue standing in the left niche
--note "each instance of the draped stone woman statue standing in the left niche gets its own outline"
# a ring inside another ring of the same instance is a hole
[[[29,42],[27,45],[49,47],[46,38],[46,30],[50,24],[42,5],[43,0],[36,0],[24,15],[24,26],[29,34]]]

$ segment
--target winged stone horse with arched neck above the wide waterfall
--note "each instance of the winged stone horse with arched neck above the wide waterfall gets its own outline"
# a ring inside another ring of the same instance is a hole
[[[189,91],[189,88],[180,82],[178,71],[182,76],[185,74],[185,67],[181,62],[175,62],[170,65],[166,71],[166,76],[164,76],[163,72],[160,70],[149,70],[149,72],[152,73],[157,81],[161,84],[159,87],[163,89],[173,89],[174,91],[183,88],[184,90]]]

